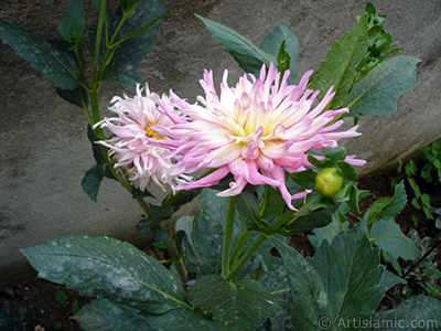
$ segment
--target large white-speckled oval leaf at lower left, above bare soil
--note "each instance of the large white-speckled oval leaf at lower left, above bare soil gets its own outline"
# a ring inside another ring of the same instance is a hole
[[[68,236],[21,249],[39,277],[85,296],[101,295],[139,310],[185,307],[185,293],[157,259],[109,237]]]

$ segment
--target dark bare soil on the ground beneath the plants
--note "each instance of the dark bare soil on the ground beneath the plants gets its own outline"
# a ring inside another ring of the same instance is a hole
[[[363,179],[358,188],[368,190],[372,195],[361,201],[362,213],[377,199],[392,195],[389,184],[390,174]],[[409,190],[408,190],[409,194]],[[410,204],[396,218],[404,233],[415,227],[411,215],[418,218],[417,231],[421,237],[429,236],[434,238],[439,231],[434,227],[433,220],[427,220],[424,214]],[[357,216],[354,215],[354,220]],[[439,241],[439,239],[438,239]],[[434,245],[437,239],[432,239]],[[314,249],[309,243],[305,234],[294,236],[291,246],[304,256],[313,255]],[[149,248],[146,253],[154,255]],[[438,270],[441,266],[441,245],[437,253]],[[394,271],[391,269],[391,271]],[[438,280],[441,286],[441,281]],[[413,291],[415,292],[415,291]],[[439,293],[441,297],[441,293]],[[2,330],[9,331],[50,331],[50,330],[83,330],[71,317],[84,305],[94,298],[79,296],[76,291],[66,289],[64,286],[53,284],[43,279],[35,279],[28,282],[7,287],[0,291],[0,327],[7,324]],[[441,299],[441,298],[440,298]],[[378,310],[391,309],[399,302],[397,290],[389,290],[379,305]]]

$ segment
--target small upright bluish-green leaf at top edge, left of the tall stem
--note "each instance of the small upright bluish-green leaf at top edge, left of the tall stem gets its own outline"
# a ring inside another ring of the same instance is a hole
[[[84,10],[80,0],[74,0],[67,7],[63,21],[58,23],[58,32],[71,44],[75,44],[77,40],[83,38],[84,33]]]

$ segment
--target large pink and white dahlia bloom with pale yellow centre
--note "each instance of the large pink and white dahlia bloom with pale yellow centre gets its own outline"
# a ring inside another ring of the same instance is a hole
[[[183,117],[174,118],[173,128],[153,127],[171,140],[163,140],[173,154],[182,156],[171,169],[173,173],[192,173],[202,169],[214,171],[193,182],[183,182],[176,190],[190,190],[217,184],[227,174],[234,181],[220,196],[239,194],[245,185],[266,184],[278,189],[289,207],[291,201],[309,192],[291,194],[286,186],[284,171],[295,172],[312,167],[306,152],[319,148],[335,148],[341,138],[355,137],[357,126],[341,132],[343,125],[336,120],[348,109],[325,110],[334,96],[332,88],[312,108],[319,90],[306,89],[312,71],[306,72],[299,85],[288,85],[289,72],[280,73],[265,65],[260,76],[244,75],[235,87],[227,84],[225,71],[218,96],[213,83],[213,72],[205,71],[200,81],[205,98],[202,105],[189,105],[172,94]],[[364,161],[348,157],[347,161],[361,166]]]

